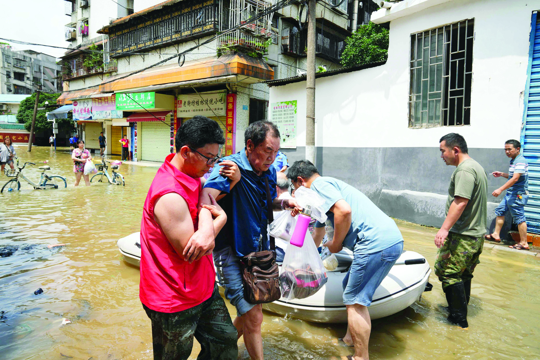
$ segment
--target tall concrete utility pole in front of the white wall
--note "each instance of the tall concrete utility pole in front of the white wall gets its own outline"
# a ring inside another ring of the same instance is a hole
[[[315,8],[308,2],[306,74],[306,159],[315,164]]]

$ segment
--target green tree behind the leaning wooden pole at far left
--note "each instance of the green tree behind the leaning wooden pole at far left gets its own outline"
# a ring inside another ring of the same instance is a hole
[[[48,94],[48,93],[40,93],[39,94],[39,107],[45,107],[45,101],[49,101],[49,105],[53,105],[56,103],[56,99],[60,94]],[[36,103],[36,93],[31,94],[28,98],[21,101],[21,106],[19,106],[19,110],[17,111],[17,121],[20,124],[24,124],[24,127],[26,130],[30,131],[30,127],[32,126],[32,116],[33,116],[33,106]],[[48,111],[54,110],[54,107],[49,107],[47,110],[38,110],[36,114],[36,125],[34,128],[35,132],[40,132],[44,130],[50,130],[52,129],[52,121],[47,121],[47,115],[46,113]],[[72,120],[71,119],[56,119],[56,123],[60,124],[58,126],[71,126]]]

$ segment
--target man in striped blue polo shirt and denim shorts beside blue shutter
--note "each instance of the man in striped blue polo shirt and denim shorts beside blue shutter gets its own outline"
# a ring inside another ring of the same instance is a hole
[[[495,215],[497,215],[495,230],[492,234],[486,235],[485,238],[491,241],[501,242],[504,213],[510,210],[510,215],[512,215],[512,219],[514,219],[514,223],[517,224],[517,229],[519,230],[519,242],[509,247],[518,250],[529,250],[529,244],[527,243],[527,222],[525,222],[524,210],[524,206],[527,205],[527,200],[529,199],[529,163],[519,153],[519,150],[521,150],[521,144],[517,140],[508,140],[504,143],[504,152],[511,159],[510,169],[508,170],[508,174],[494,171],[493,176],[495,178],[502,176],[503,178],[507,178],[508,181],[496,189],[492,195],[497,197],[505,190],[507,193],[499,206],[495,208]]]

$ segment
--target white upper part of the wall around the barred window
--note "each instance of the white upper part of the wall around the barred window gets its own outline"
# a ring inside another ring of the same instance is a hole
[[[469,147],[519,139],[527,79],[531,12],[540,0],[454,0],[390,22],[386,64],[316,80],[315,145],[431,147],[449,132]],[[408,128],[410,34],[475,19],[470,126]],[[270,103],[298,101],[298,142],[305,146],[305,81],[270,89]]]

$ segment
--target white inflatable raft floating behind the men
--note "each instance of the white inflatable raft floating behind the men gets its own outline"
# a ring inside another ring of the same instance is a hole
[[[117,241],[124,260],[133,266],[140,264],[140,233],[133,233]],[[343,249],[336,254],[339,267],[327,271],[328,281],[317,293],[301,300],[286,301],[284,298],[262,307],[271,313],[288,315],[318,323],[346,323],[347,312],[343,305],[343,277],[347,274],[353,254]],[[373,302],[368,307],[372,319],[398,313],[420,300],[424,291],[431,290],[429,275],[431,269],[422,255],[405,251],[390,269],[381,285],[375,291]],[[222,288],[220,287],[222,292]]]

